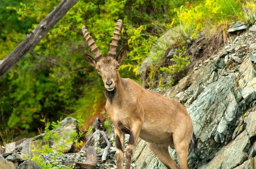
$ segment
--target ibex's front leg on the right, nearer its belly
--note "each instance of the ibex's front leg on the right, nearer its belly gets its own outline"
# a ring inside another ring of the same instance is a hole
[[[131,158],[134,152],[134,147],[137,143],[137,139],[140,135],[140,127],[141,122],[133,123],[133,126],[131,128],[130,138],[128,142],[128,146],[125,149],[125,169],[131,169]]]

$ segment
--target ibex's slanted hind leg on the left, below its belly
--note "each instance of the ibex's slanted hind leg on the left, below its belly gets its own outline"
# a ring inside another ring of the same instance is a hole
[[[167,169],[180,169],[180,167],[172,160],[168,146],[169,145],[159,145],[157,146],[155,143],[147,143],[148,147],[155,153],[158,160],[160,160]]]

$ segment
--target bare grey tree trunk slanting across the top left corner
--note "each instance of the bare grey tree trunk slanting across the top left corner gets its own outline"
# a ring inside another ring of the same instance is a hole
[[[62,0],[6,58],[0,61],[0,79],[8,73],[79,0]]]

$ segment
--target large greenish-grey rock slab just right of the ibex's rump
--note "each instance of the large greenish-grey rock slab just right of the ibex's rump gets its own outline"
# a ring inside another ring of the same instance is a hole
[[[234,74],[227,78],[220,76],[218,81],[206,87],[187,108],[192,117],[195,135],[199,135],[204,144],[202,146],[209,149],[197,152],[205,160],[213,152],[212,148],[218,146],[217,143],[224,143],[227,131],[234,126],[236,115],[241,111],[236,102],[239,91],[234,84],[235,78]]]

